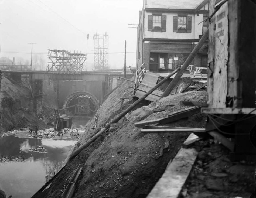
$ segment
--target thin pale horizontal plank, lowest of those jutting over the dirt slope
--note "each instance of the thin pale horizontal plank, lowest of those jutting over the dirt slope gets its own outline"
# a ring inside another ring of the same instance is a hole
[[[141,129],[142,133],[187,133],[187,132],[203,132],[205,133],[205,128],[163,128],[163,129]]]

